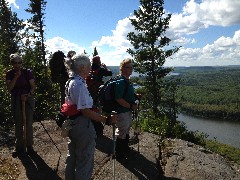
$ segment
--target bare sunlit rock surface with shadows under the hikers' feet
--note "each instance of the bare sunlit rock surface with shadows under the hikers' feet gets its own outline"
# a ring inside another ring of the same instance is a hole
[[[50,138],[51,137],[51,138]],[[60,128],[54,121],[34,123],[34,150],[31,155],[12,157],[12,132],[0,133],[0,167],[6,160],[16,169],[17,178],[58,180],[64,179],[67,155],[67,138],[61,137]],[[220,155],[201,146],[179,140],[169,139],[163,149],[161,161],[158,160],[158,137],[142,133],[140,143],[132,146],[132,152],[126,161],[118,162],[112,158],[112,128],[105,126],[104,136],[98,137],[94,161],[93,179],[239,179],[240,168]],[[161,165],[160,165],[161,164]],[[9,175],[10,176],[10,175]]]

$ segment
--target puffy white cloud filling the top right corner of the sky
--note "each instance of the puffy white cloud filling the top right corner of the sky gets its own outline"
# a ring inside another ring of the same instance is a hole
[[[230,26],[240,23],[239,0],[194,0],[186,2],[183,12],[173,14],[169,30],[180,34],[194,34],[209,26]]]

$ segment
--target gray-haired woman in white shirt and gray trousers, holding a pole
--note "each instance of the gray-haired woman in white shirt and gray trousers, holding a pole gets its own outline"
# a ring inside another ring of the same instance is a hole
[[[91,120],[113,124],[115,116],[103,116],[91,110],[92,97],[89,94],[85,78],[91,70],[90,59],[82,54],[75,55],[67,62],[71,78],[66,86],[65,102],[76,104],[79,115],[74,119],[69,131],[68,156],[66,159],[65,179],[91,179],[94,164],[96,132]]]

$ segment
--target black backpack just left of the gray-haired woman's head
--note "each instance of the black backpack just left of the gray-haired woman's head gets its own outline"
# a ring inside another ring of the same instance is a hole
[[[65,83],[68,79],[68,73],[64,65],[65,55],[62,51],[53,53],[49,61],[49,68],[51,70],[51,80],[54,83]]]

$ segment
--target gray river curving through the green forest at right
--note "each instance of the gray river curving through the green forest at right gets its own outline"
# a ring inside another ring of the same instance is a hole
[[[178,121],[186,123],[190,131],[200,131],[209,135],[208,139],[240,148],[240,122],[223,121],[178,115]]]

